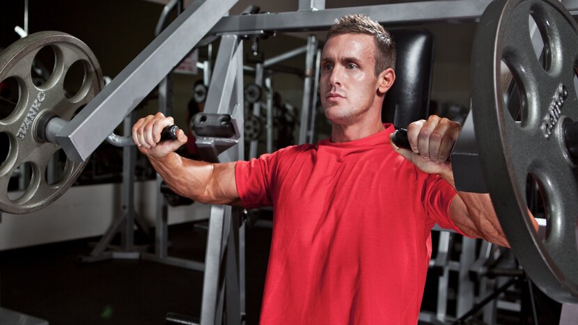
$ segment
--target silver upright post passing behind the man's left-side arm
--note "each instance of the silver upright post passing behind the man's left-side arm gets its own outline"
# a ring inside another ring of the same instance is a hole
[[[205,113],[231,113],[236,136],[232,139],[199,137],[196,140],[203,158],[210,161],[243,159],[243,61],[242,41],[236,35],[221,38],[211,78]],[[236,144],[236,145],[235,145]],[[220,148],[228,149],[220,152]],[[244,236],[240,236],[239,209],[212,205],[210,209],[201,324],[221,324],[226,301],[228,324],[241,324],[244,315]],[[238,244],[237,244],[238,243]],[[238,246],[237,246],[238,245]],[[221,274],[224,277],[221,278]]]

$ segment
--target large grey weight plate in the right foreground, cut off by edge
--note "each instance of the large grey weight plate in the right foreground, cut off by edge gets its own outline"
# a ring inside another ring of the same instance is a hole
[[[542,62],[533,49],[530,17],[545,43]],[[578,120],[578,26],[558,1],[494,1],[478,24],[473,53],[476,138],[500,224],[536,285],[556,301],[576,303],[578,182],[563,125]],[[520,122],[503,100],[505,70],[520,91]],[[529,175],[538,182],[545,203],[545,238],[534,230],[526,207]]]

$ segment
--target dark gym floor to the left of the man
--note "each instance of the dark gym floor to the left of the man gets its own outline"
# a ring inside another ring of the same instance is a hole
[[[203,261],[207,232],[169,227],[169,255]],[[51,325],[164,324],[167,312],[201,314],[203,273],[143,260],[79,262],[99,238],[0,253],[0,306]],[[247,230],[247,324],[258,324],[271,230]]]

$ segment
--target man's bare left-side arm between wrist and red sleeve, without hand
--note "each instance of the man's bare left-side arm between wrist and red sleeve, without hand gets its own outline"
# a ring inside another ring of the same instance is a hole
[[[235,187],[235,162],[211,164],[171,152],[149,157],[150,164],[178,195],[201,203],[239,205]]]

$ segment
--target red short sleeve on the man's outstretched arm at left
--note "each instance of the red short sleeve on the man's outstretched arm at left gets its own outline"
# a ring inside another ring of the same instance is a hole
[[[272,179],[277,152],[263,154],[250,161],[237,161],[235,182],[241,201],[247,209],[272,205]]]

